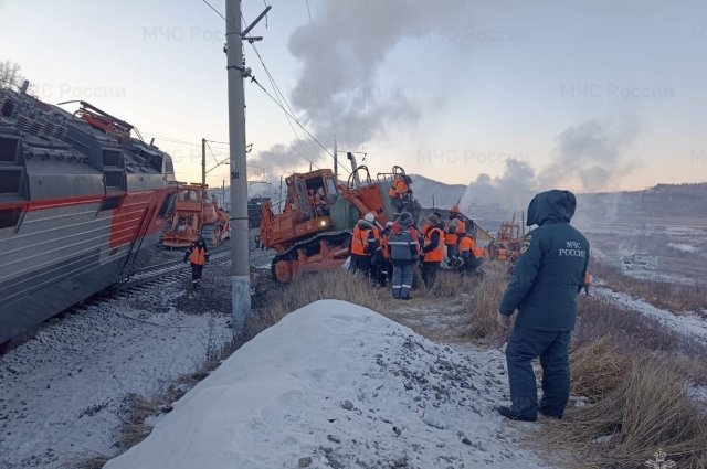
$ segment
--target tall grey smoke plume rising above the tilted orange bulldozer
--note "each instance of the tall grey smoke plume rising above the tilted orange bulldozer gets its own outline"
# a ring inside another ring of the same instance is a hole
[[[402,41],[462,30],[471,12],[465,0],[323,2],[313,21],[289,38],[289,52],[300,64],[291,96],[295,114],[319,141],[336,136],[347,150],[384,135],[393,125],[414,124],[421,111],[405,90],[404,77],[383,85],[381,67]],[[305,158],[330,167],[324,154],[296,141],[260,152],[253,163],[273,173],[306,166]]]

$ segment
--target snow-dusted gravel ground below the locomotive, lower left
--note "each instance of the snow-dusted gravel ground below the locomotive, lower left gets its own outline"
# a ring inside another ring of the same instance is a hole
[[[139,299],[93,306],[0,355],[0,468],[53,469],[112,454],[126,395],[149,395],[193,371],[232,335],[228,316],[178,312],[180,296],[178,284],[155,286]]]

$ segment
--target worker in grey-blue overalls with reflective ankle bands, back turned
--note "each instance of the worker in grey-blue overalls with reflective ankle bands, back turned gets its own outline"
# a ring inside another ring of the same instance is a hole
[[[409,300],[414,264],[420,254],[418,233],[412,227],[412,215],[409,212],[402,212],[393,223],[388,252],[393,265],[393,298]]]

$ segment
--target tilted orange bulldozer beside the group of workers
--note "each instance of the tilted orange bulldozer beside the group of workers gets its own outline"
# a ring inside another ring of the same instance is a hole
[[[351,230],[358,220],[373,212],[382,228],[393,218],[388,190],[394,178],[407,178],[404,170],[394,167],[391,173],[379,173],[372,180],[368,167],[357,166],[352,153],[348,159],[352,172],[346,183],[329,169],[294,173],[285,179],[287,196],[281,201],[278,213],[270,201],[263,204],[260,242],[277,252],[271,265],[277,281],[341,268],[349,257]],[[409,195],[409,206],[403,210],[419,206],[412,193]]]

